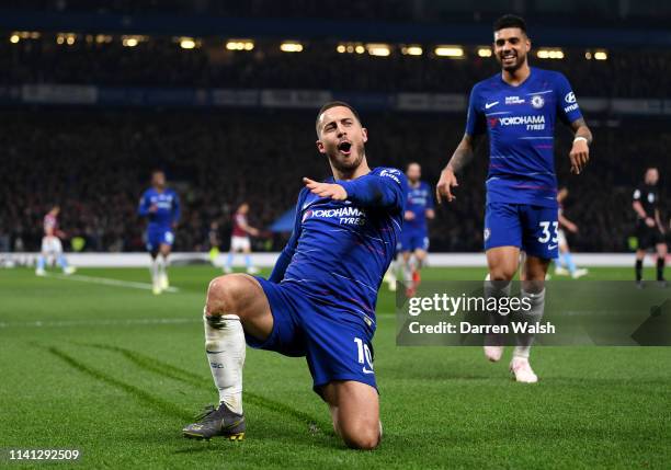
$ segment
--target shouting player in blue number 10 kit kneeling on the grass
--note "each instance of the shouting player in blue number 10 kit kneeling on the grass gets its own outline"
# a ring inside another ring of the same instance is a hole
[[[184,427],[186,437],[243,436],[247,341],[305,356],[336,433],[352,448],[379,444],[375,303],[400,237],[407,181],[396,169],[368,168],[367,131],[349,104],[323,105],[316,128],[333,177],[304,179],[294,231],[270,279],[229,274],[209,284],[205,348],[219,405]]]

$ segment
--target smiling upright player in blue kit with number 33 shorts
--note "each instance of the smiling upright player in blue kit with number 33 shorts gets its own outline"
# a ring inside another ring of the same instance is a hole
[[[470,92],[466,134],[441,173],[436,196],[453,202],[456,174],[471,160],[476,139],[489,133],[489,175],[485,210],[485,250],[489,266],[485,294],[510,295],[518,272],[520,251],[522,296],[532,309],[528,322],[539,321],[545,307],[545,275],[559,244],[557,177],[553,156],[555,121],[559,117],[575,131],[569,153],[571,172],[580,174],[589,160],[592,133],[578,107],[566,77],[530,67],[531,41],[524,20],[505,15],[494,24],[494,55],[501,73],[477,83]],[[494,321],[502,321],[496,314]],[[510,369],[520,382],[536,382],[528,355],[533,335],[520,335]],[[503,345],[497,336],[486,337],[485,354],[497,362]]]

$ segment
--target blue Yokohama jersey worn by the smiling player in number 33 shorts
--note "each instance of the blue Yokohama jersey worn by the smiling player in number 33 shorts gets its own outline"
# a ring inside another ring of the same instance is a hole
[[[562,73],[532,67],[518,87],[497,73],[473,88],[466,134],[489,134],[488,203],[557,207],[557,116],[565,124],[582,117]]]

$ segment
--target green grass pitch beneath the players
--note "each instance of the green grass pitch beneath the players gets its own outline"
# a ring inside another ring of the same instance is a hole
[[[508,356],[489,364],[479,348],[397,347],[385,289],[374,342],[377,450],[343,447],[303,358],[251,349],[246,440],[186,440],[182,426],[216,400],[201,316],[217,274],[173,267],[179,291],[155,297],[90,282],[147,283],[147,270],[80,270],[87,282],[0,270],[3,458],[10,448],[78,448],[73,468],[669,468],[671,348],[538,347],[541,382],[519,385]],[[484,274],[428,268],[424,279]],[[590,277],[632,275],[593,268]]]

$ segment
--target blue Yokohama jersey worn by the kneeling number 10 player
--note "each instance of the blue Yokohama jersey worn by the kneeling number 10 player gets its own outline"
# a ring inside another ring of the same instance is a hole
[[[334,305],[368,325],[375,321],[377,290],[400,240],[406,175],[376,168],[341,184],[346,200],[303,188],[294,232],[270,279],[292,283],[320,305]]]

